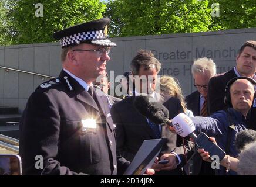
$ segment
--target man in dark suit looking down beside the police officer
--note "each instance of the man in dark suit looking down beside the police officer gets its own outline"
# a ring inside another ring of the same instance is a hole
[[[140,93],[149,94],[167,107],[169,117],[172,119],[178,113],[183,112],[180,100],[155,92],[157,73],[160,71],[161,64],[150,51],[139,51],[133,58],[130,67],[135,79],[133,96],[123,99],[111,109],[113,121],[117,126],[117,154],[132,161],[144,140],[166,138],[159,158],[169,160],[169,163],[154,164],[152,168],[156,171],[166,170],[167,174],[179,175],[181,167],[185,164],[185,157],[192,153],[193,143],[185,140],[187,155],[184,154],[181,138],[178,137],[177,140],[177,135],[171,133],[166,127],[153,124],[149,119],[140,115],[134,108],[133,101]],[[163,174],[163,172],[159,172],[159,174]]]

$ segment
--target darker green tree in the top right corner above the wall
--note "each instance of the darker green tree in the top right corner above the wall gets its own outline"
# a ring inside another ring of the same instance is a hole
[[[211,3],[216,1],[211,0]],[[222,29],[239,29],[256,27],[255,0],[218,0],[220,17],[213,19],[213,26]]]

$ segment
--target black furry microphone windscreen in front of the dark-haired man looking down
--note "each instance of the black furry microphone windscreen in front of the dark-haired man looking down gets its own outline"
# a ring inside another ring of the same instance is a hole
[[[151,96],[136,96],[133,105],[140,114],[153,123],[164,124],[168,120],[168,109]]]

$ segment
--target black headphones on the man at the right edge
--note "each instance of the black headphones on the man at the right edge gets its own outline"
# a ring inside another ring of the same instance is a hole
[[[226,88],[225,88],[225,98],[224,98],[224,103],[228,107],[232,107],[232,102],[231,102],[231,96],[230,96],[230,86],[237,81],[238,79],[247,79],[248,81],[251,82],[252,85],[256,85],[256,81],[250,77],[245,77],[245,76],[240,76],[240,77],[234,77],[230,81],[228,81]]]

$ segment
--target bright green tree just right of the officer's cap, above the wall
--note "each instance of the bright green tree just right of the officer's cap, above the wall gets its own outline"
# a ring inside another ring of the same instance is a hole
[[[212,22],[208,0],[112,0],[105,15],[112,37],[201,32]]]

